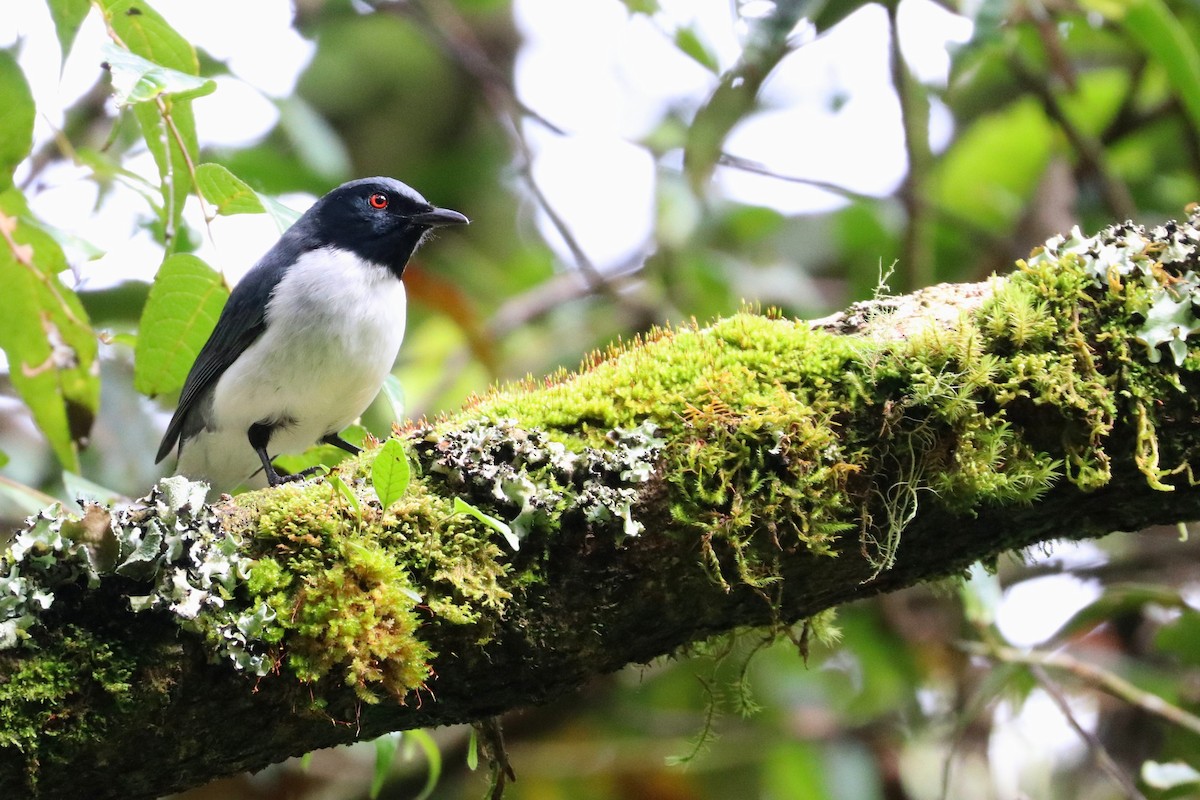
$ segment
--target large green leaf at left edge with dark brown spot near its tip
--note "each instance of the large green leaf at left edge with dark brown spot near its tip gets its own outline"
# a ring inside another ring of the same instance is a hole
[[[98,343],[79,297],[62,285],[58,242],[29,217],[17,190],[0,193],[0,349],[13,386],[62,467],[78,471],[76,443],[100,405]]]

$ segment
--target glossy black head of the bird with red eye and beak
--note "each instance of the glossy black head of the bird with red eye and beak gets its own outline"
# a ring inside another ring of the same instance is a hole
[[[395,179],[364,178],[317,200],[295,227],[317,246],[348,249],[400,277],[433,228],[466,223],[467,217],[431,205]]]

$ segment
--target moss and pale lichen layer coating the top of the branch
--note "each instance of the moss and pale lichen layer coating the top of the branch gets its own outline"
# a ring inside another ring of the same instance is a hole
[[[263,680],[404,702],[433,680],[438,626],[488,642],[564,531],[694,542],[726,588],[761,591],[796,553],[860,554],[877,576],[926,505],[971,516],[1104,486],[1121,420],[1169,491],[1162,401],[1200,366],[1196,225],[1056,236],[950,317],[881,302],[851,332],[751,313],[654,331],[400,431],[414,476],[386,507],[367,452],[340,468],[344,491],[209,506],[174,477],[130,507],[44,511],[0,561],[0,692],[24,693],[0,704],[0,746],[36,751],[84,676],[131,697],[150,656],[76,621],[91,591]]]

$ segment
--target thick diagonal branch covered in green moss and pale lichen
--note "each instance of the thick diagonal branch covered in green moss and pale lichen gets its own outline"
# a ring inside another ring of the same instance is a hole
[[[397,432],[389,507],[368,451],[43,512],[0,563],[0,796],[151,798],[1196,518],[1198,241],[1076,231],[983,284],[658,331]]]

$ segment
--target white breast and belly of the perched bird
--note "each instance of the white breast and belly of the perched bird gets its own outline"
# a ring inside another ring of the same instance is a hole
[[[204,471],[248,467],[235,482],[254,471],[246,439],[254,423],[280,426],[268,447],[274,457],[304,450],[361,415],[396,360],[404,306],[404,287],[386,267],[330,247],[301,255],[266,305],[265,332],[217,381],[209,435],[197,437],[212,451]],[[229,458],[238,464],[218,468]]]

